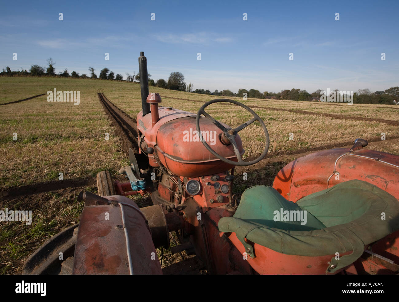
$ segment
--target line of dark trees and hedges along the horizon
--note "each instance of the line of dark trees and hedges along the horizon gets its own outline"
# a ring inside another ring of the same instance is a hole
[[[31,65],[29,72],[25,69],[21,71],[11,71],[10,67],[6,67],[0,73],[0,76],[57,76],[55,74],[55,62],[50,57],[47,59],[47,69],[44,70],[43,67],[34,64]],[[69,75],[68,70],[65,68],[64,71],[58,73],[58,76],[61,77],[72,77],[72,78],[91,78],[91,79],[103,79],[103,80],[116,80],[116,81],[124,81],[123,76],[109,70],[107,67],[101,69],[99,76],[97,77],[95,73],[95,69],[93,67],[89,67],[90,76],[86,73],[79,75],[79,73],[72,71]],[[133,74],[126,73],[126,81],[128,82],[140,82],[140,73]],[[308,93],[306,90],[301,89],[282,89],[278,93],[273,93],[269,91],[264,91],[261,93],[257,89],[238,89],[237,93],[233,93],[229,89],[218,91],[217,89],[211,92],[209,89],[195,89],[194,85],[190,82],[188,85],[184,81],[184,75],[180,72],[174,71],[170,73],[168,80],[158,79],[154,81],[151,79],[151,75],[148,74],[148,85],[160,87],[164,89],[171,89],[171,90],[179,90],[179,91],[187,91],[192,93],[199,93],[205,95],[217,95],[222,97],[248,97],[254,99],[281,99],[281,100],[291,100],[291,101],[317,101],[320,99],[320,95],[322,93],[322,89],[318,89],[313,93]],[[335,89],[335,91],[339,91]],[[385,89],[385,91],[375,91],[372,92],[369,89],[359,89],[357,92],[354,93],[354,103],[358,104],[392,104],[393,100],[399,101],[399,87],[390,87]]]

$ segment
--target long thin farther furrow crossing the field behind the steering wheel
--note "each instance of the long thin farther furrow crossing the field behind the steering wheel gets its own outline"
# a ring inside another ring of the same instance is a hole
[[[182,101],[193,101],[198,103],[206,103],[205,101],[198,101],[198,100],[190,100],[190,99],[180,99],[177,97],[165,97],[166,99],[175,99],[175,100],[182,100]],[[235,106],[234,104],[224,103],[223,105]],[[335,105],[335,104],[334,104]],[[349,105],[347,105],[349,106]],[[272,111],[284,111],[284,112],[291,112],[291,113],[299,113],[299,114],[308,114],[308,115],[316,115],[316,116],[324,116],[329,118],[336,118],[339,120],[362,120],[366,122],[381,122],[389,125],[399,126],[399,121],[397,120],[385,120],[383,118],[370,118],[370,117],[361,117],[361,116],[348,116],[348,115],[340,115],[340,114],[332,114],[332,113],[318,113],[313,111],[305,111],[305,110],[294,110],[294,109],[283,109],[283,108],[275,108],[275,107],[264,107],[264,106],[257,106],[252,105],[248,106],[251,109],[268,109]],[[383,107],[378,107],[383,108]]]

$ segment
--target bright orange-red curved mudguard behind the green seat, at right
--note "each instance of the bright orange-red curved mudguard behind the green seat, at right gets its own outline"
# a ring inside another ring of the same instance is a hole
[[[315,152],[287,164],[277,174],[273,188],[286,199],[296,202],[304,196],[327,189],[327,180],[334,172],[337,158],[349,149],[332,149]],[[399,156],[374,150],[361,149],[354,155],[379,158],[399,166]],[[399,168],[381,161],[345,155],[337,162],[339,179],[333,175],[329,182],[332,187],[341,182],[358,179],[369,182],[399,199]]]

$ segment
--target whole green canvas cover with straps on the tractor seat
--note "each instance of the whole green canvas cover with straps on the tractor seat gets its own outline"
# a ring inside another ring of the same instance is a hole
[[[245,238],[287,255],[332,258],[335,272],[350,265],[365,246],[399,229],[399,203],[384,190],[350,180],[310,194],[296,203],[286,200],[274,188],[246,189],[233,217],[219,220],[219,231],[235,232],[247,254],[255,257]]]

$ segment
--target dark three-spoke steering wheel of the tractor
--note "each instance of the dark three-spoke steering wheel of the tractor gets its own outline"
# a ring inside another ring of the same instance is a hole
[[[239,106],[243,107],[245,110],[249,111],[253,115],[253,118],[251,118],[250,120],[248,120],[244,124],[241,124],[237,128],[234,128],[234,129],[233,128],[226,128],[220,122],[218,122],[212,116],[210,116],[209,114],[207,114],[205,112],[205,108],[206,107],[208,107],[209,105],[211,105],[213,103],[219,103],[219,102],[233,103],[235,105],[239,105]],[[211,122],[213,124],[215,124],[215,126],[217,126],[217,128],[219,128],[220,130],[223,131],[223,134],[224,134],[225,138],[227,138],[230,141],[230,143],[233,145],[234,153],[235,153],[235,156],[237,157],[238,162],[234,162],[233,160],[228,160],[227,158],[224,158],[223,156],[221,156],[220,154],[218,154],[214,150],[212,150],[212,148],[209,147],[209,145],[205,142],[205,140],[201,139],[201,141],[202,141],[203,145],[205,146],[205,148],[207,148],[209,150],[209,152],[211,152],[214,156],[216,156],[217,158],[219,158],[223,162],[227,162],[228,164],[232,164],[232,165],[235,165],[235,166],[250,166],[250,165],[256,164],[257,162],[260,162],[262,160],[262,158],[265,157],[267,151],[269,150],[269,143],[270,143],[270,141],[269,141],[269,133],[267,132],[267,128],[266,128],[265,123],[263,122],[263,120],[251,108],[249,108],[248,106],[245,106],[244,104],[241,104],[240,102],[229,100],[229,99],[215,99],[215,100],[206,102],[198,110],[198,113],[197,113],[196,126],[197,126],[198,133],[201,133],[201,130],[199,129],[199,117],[201,116],[201,114],[203,114],[206,118],[211,120]],[[265,137],[266,137],[265,150],[255,160],[252,160],[251,162],[244,162],[243,159],[241,158],[240,151],[238,150],[237,143],[235,142],[235,137],[237,136],[237,133],[239,131],[243,130],[245,127],[247,127],[248,125],[250,125],[253,122],[255,122],[255,120],[257,120],[258,122],[261,123],[263,131],[265,132]],[[222,134],[222,136],[223,136],[223,134]]]

